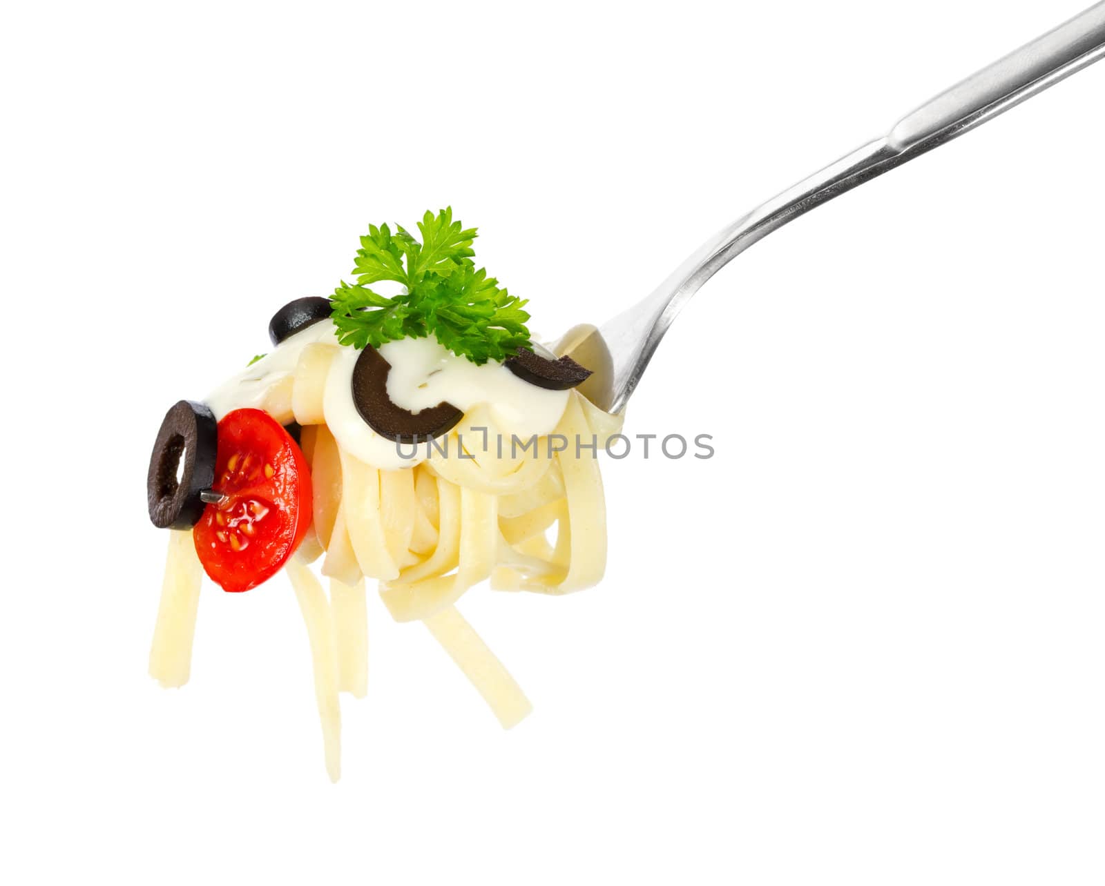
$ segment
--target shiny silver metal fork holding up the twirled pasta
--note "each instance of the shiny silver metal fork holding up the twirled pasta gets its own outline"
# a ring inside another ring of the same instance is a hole
[[[620,412],[680,309],[753,243],[838,194],[938,148],[1105,55],[1105,2],[985,67],[864,145],[706,241],[645,299],[596,329],[576,327],[556,350],[594,370],[582,392]]]

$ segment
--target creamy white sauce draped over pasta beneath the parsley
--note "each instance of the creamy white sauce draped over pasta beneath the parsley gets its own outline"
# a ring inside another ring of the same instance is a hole
[[[396,444],[377,434],[357,411],[352,401],[352,369],[360,351],[338,345],[334,324],[322,320],[290,336],[271,354],[221,384],[208,398],[217,419],[235,409],[260,409],[265,393],[295,371],[299,355],[307,345],[333,344],[323,397],[326,425],[338,445],[360,461],[382,468],[411,467],[428,457],[430,444],[418,447]],[[549,391],[515,376],[503,363],[488,361],[476,366],[457,357],[430,338],[403,338],[380,347],[380,355],[391,365],[388,397],[411,412],[452,403],[467,413],[486,407],[492,421],[505,436],[517,434],[527,440],[551,433],[568,403],[569,391]],[[551,356],[538,348],[544,356]]]

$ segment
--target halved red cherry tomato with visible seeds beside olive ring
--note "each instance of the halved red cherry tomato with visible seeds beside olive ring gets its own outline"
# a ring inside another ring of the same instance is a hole
[[[214,488],[192,537],[204,571],[224,591],[248,591],[274,576],[311,525],[311,470],[287,431],[260,409],[219,422]]]

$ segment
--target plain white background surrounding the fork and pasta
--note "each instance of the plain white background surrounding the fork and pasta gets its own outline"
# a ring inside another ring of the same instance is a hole
[[[712,281],[606,462],[610,565],[462,609],[503,732],[370,608],[322,761],[277,579],[145,673],[165,409],[452,203],[546,336],[1078,0],[23,3],[0,22],[0,879],[1101,883],[1105,65]]]

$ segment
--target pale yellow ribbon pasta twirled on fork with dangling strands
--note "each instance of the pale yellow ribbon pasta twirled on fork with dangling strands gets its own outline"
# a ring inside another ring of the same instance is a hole
[[[554,434],[517,441],[477,407],[429,457],[381,470],[343,450],[324,424],[338,345],[311,344],[271,382],[266,409],[304,425],[312,528],[285,570],[307,627],[326,768],[340,774],[339,693],[368,681],[366,580],[398,622],[421,621],[504,728],[526,717],[522,689],[456,605],[474,586],[562,594],[606,568],[606,506],[596,450],[621,426],[577,391]],[[562,445],[561,445],[562,444]],[[549,540],[552,538],[554,540]],[[329,594],[309,563],[320,559]],[[150,673],[187,682],[200,565],[190,532],[171,534]]]

